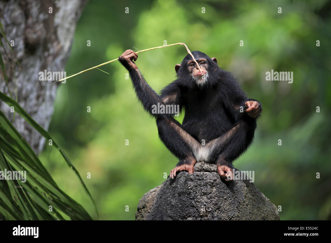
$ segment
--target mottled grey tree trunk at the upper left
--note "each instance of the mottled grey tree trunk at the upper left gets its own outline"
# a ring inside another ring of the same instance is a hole
[[[0,47],[0,52],[6,67],[9,89],[13,99],[17,98],[18,103],[45,130],[48,130],[53,114],[58,83],[49,86],[50,81],[39,81],[39,72],[45,69],[51,72],[64,71],[76,23],[86,2],[0,0],[0,21],[8,41],[14,44],[12,49],[15,52],[11,52],[1,36],[5,50]],[[21,70],[16,64],[16,58]],[[2,71],[0,90],[9,96]],[[0,109],[9,120],[13,120],[14,113],[7,104],[1,102]],[[45,143],[41,135],[18,114],[15,115],[13,125],[38,154]]]

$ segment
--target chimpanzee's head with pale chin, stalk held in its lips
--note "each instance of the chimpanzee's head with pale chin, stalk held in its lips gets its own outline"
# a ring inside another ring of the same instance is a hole
[[[217,81],[215,74],[219,69],[216,58],[210,58],[199,51],[192,52],[192,55],[198,62],[201,72],[191,55],[187,54],[182,63],[175,66],[177,76],[181,79],[183,85],[205,87],[214,84]]]

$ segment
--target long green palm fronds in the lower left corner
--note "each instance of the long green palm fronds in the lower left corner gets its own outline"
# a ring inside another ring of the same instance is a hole
[[[47,140],[52,139],[14,100],[0,92],[0,100],[14,106],[17,112]],[[53,141],[70,168],[80,178],[63,150]],[[0,111],[0,168],[2,171],[22,171],[25,180],[0,182],[1,219],[64,220],[60,211],[72,220],[91,220],[85,209],[71,199],[54,182],[28,143]],[[24,173],[26,171],[26,174]],[[4,173],[4,172],[3,172]],[[7,174],[3,174],[7,178]],[[25,182],[23,182],[25,181]],[[86,193],[89,192],[82,183]],[[92,199],[92,198],[91,198]],[[92,199],[93,200],[93,199]],[[52,206],[51,213],[48,211]]]

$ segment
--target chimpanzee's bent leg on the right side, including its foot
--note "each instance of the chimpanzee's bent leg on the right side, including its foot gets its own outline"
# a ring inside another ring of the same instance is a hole
[[[256,123],[241,121],[227,133],[206,144],[210,158],[216,161],[217,172],[226,181],[232,180],[232,161],[253,142]]]

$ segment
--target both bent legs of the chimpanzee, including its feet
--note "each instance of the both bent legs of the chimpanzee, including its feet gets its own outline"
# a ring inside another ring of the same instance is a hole
[[[249,124],[241,121],[222,136],[202,146],[173,118],[158,118],[157,125],[162,142],[180,159],[177,166],[171,170],[170,178],[183,170],[192,174],[196,158],[199,158],[199,161],[216,163],[218,174],[226,181],[227,177],[232,180],[232,161],[245,152],[253,142],[256,129],[255,122]]]

